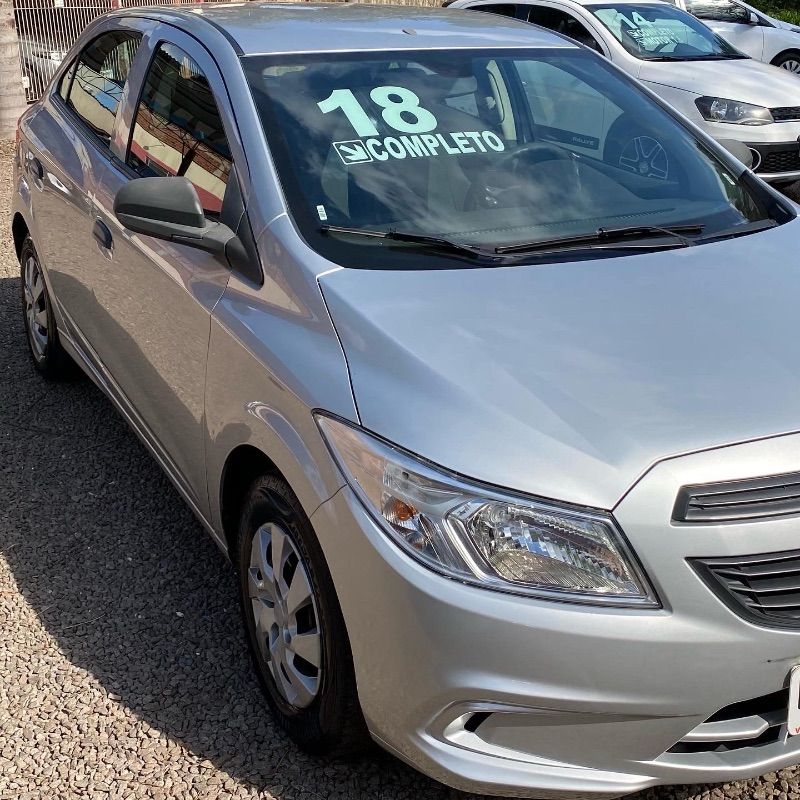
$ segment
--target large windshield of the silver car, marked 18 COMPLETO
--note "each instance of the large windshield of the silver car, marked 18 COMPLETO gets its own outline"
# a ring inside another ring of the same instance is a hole
[[[576,247],[594,244],[587,257],[685,245],[701,230],[768,221],[775,202],[577,48],[244,64],[289,210],[306,242],[343,266],[454,268],[534,249],[539,260],[563,260],[565,249],[574,260]],[[691,230],[666,230],[675,226]],[[615,233],[630,228],[640,235]]]

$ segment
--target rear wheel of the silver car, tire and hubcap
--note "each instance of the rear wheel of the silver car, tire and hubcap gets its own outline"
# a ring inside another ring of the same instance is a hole
[[[22,242],[19,263],[22,315],[33,364],[48,380],[75,380],[80,370],[61,346],[50,293],[30,236],[26,236]]]

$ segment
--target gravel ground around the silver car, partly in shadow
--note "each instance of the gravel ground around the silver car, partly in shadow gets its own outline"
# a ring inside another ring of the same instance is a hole
[[[301,754],[272,724],[233,573],[88,381],[32,369],[0,143],[0,798],[457,800],[380,752]],[[800,798],[784,770],[638,800]]]

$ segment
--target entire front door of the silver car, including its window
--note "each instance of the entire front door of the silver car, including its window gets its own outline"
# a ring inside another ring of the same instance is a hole
[[[110,164],[96,187],[96,213],[111,247],[98,237],[90,254],[100,320],[95,348],[204,514],[206,358],[211,312],[229,268],[200,250],[132,234],[114,216],[113,203],[136,177],[185,175],[207,215],[224,212],[232,159],[205,78],[212,69],[213,62],[201,68],[175,45],[157,45],[131,121],[128,163]]]

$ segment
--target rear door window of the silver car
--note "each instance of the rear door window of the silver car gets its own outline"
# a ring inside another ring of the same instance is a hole
[[[98,36],[79,56],[75,77],[67,72],[59,87],[67,106],[108,145],[122,92],[141,36],[128,31],[111,31]]]

